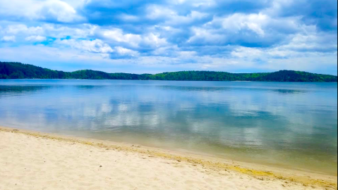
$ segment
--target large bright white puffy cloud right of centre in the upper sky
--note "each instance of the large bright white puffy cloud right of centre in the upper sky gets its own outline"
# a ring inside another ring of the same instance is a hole
[[[299,18],[272,18],[263,13],[235,13],[214,17],[200,27],[192,27],[188,39],[197,45],[273,46],[296,32],[311,32],[311,27],[299,23]]]

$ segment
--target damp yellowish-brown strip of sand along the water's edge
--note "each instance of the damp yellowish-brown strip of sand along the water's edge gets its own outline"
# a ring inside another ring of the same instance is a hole
[[[81,144],[83,146],[99,148],[107,151],[121,151],[124,153],[134,153],[137,155],[147,156],[148,158],[171,160],[178,163],[193,165],[195,167],[203,167],[205,170],[214,173],[230,171],[235,172],[239,175],[250,176],[253,177],[253,179],[258,179],[262,181],[267,180],[288,182],[301,186],[315,186],[318,188],[337,189],[337,176],[321,175],[318,173],[304,172],[298,170],[281,169],[266,165],[242,163],[234,160],[225,160],[223,158],[213,158],[193,153],[181,153],[178,151],[169,151],[161,148],[152,148],[135,144],[116,143],[113,141],[102,141],[97,139],[85,139],[81,137],[62,136],[59,134],[33,132],[11,127],[0,127],[0,132],[23,134],[27,137],[34,137],[37,139],[45,139],[49,141],[52,140],[71,144]]]

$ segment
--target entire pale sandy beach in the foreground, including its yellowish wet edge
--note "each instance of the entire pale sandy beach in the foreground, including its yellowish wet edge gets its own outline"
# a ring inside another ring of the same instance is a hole
[[[0,128],[1,190],[337,189],[337,177],[229,162]]]

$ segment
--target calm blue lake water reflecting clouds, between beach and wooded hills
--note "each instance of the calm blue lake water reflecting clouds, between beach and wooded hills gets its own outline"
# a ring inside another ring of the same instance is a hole
[[[0,80],[0,125],[337,175],[337,83]]]

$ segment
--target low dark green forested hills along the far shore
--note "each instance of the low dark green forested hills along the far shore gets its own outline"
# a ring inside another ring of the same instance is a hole
[[[64,72],[35,65],[0,62],[0,79],[90,79],[90,80],[189,80],[189,81],[267,81],[267,82],[337,82],[337,76],[310,72],[280,70],[262,73],[230,73],[214,71],[163,72],[135,75],[95,70]]]

